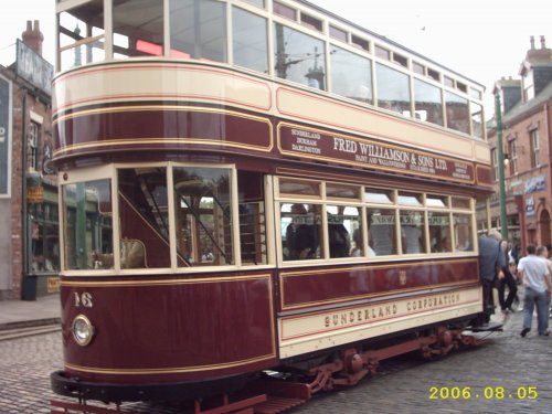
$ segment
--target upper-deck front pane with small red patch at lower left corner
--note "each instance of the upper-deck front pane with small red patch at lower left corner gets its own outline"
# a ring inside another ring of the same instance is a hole
[[[214,0],[172,0],[170,17],[173,55],[226,62],[225,3]]]

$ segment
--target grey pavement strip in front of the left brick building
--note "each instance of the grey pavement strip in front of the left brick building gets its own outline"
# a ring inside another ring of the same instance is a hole
[[[61,322],[60,295],[36,300],[0,300],[0,330]]]

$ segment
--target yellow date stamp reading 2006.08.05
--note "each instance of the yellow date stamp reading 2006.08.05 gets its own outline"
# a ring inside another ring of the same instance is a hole
[[[537,400],[537,386],[518,386],[511,390],[505,386],[429,386],[429,400]]]

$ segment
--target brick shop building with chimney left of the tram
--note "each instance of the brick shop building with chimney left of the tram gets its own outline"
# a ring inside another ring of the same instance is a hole
[[[0,65],[0,299],[56,291],[57,190],[51,82],[39,22],[29,21],[13,63]]]

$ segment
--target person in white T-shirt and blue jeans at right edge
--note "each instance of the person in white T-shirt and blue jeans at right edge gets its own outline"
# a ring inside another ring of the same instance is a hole
[[[537,306],[537,329],[539,336],[548,337],[549,312],[548,304],[551,293],[549,269],[544,262],[535,255],[537,248],[530,244],[527,246],[527,256],[518,264],[518,274],[523,280],[526,295],[523,299],[523,329],[521,337],[526,337],[531,330],[533,321],[533,309]]]

